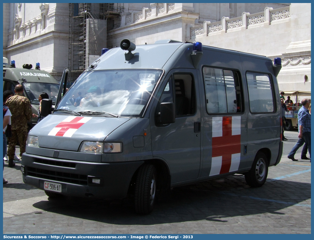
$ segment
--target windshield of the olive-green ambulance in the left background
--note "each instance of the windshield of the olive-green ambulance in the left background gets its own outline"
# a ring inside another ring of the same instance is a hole
[[[49,96],[49,99],[52,100],[52,104],[56,103],[57,95],[59,91],[59,85],[53,83],[22,83],[25,88],[26,94],[29,97],[32,104],[38,104],[39,94],[46,92]]]

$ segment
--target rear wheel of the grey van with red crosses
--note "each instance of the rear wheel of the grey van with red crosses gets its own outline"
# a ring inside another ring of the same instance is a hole
[[[258,152],[255,156],[252,168],[249,172],[244,173],[246,183],[253,187],[262,187],[266,182],[268,174],[268,161],[264,153]]]

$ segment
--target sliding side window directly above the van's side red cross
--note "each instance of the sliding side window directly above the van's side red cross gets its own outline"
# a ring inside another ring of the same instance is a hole
[[[208,114],[243,112],[243,91],[238,71],[203,67]]]

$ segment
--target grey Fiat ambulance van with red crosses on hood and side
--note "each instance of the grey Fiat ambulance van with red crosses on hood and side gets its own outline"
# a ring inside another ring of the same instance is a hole
[[[176,186],[243,173],[260,187],[282,155],[280,68],[200,42],[125,39],[31,129],[23,181],[51,198],[131,194],[141,214]]]

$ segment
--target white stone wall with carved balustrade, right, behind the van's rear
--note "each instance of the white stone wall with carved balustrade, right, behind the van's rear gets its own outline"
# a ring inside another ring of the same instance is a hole
[[[279,89],[311,91],[311,3],[265,8],[261,13],[243,13],[220,22],[205,21],[203,26],[191,28],[186,40],[271,59],[280,57]]]

